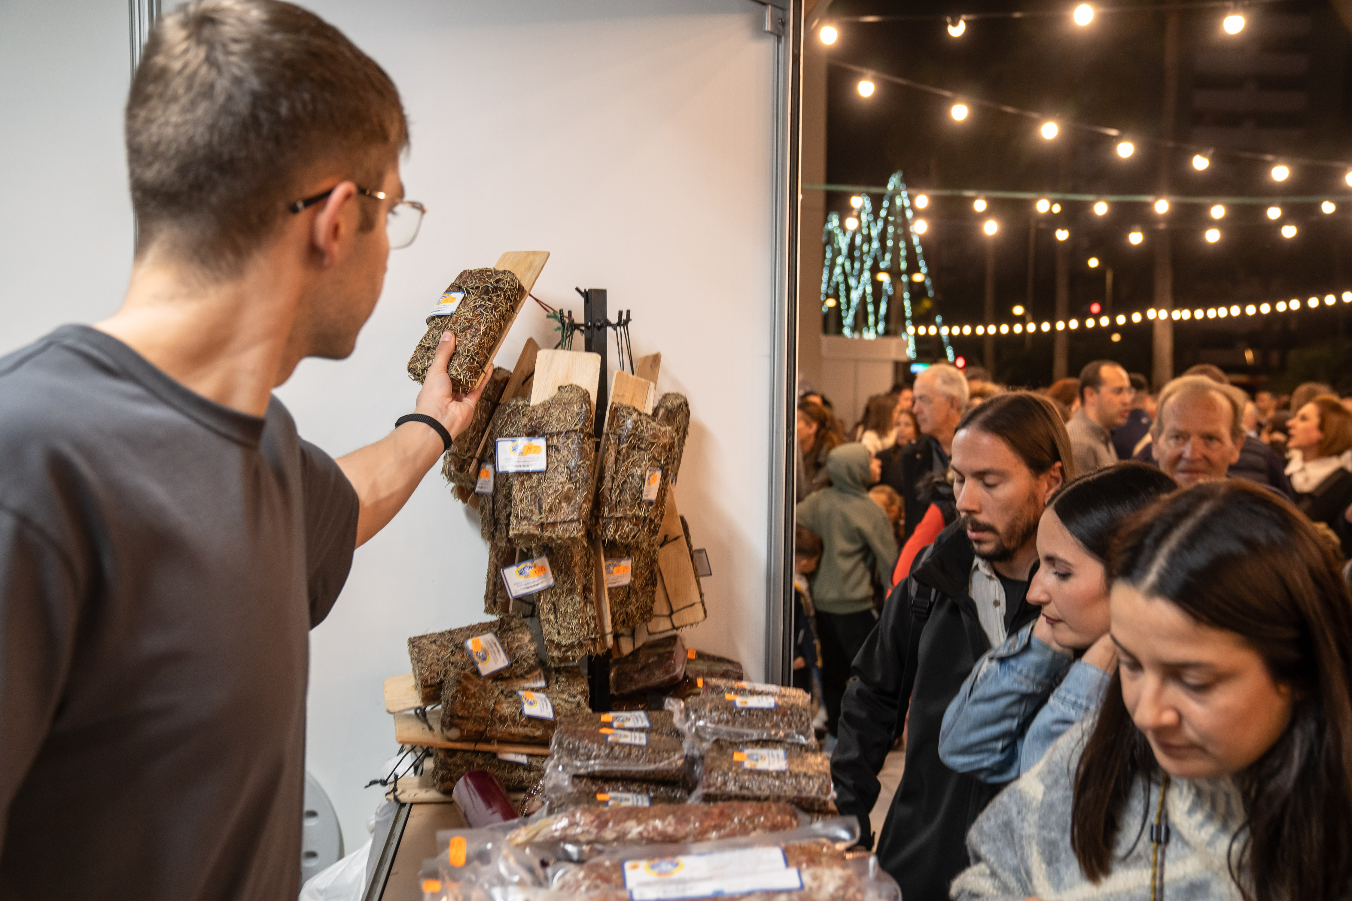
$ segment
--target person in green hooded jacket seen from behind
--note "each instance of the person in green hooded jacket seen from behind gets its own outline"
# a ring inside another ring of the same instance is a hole
[[[813,580],[817,638],[822,647],[822,701],[826,731],[836,735],[849,667],[873,631],[873,574],[891,584],[896,538],[883,508],[868,496],[871,454],[863,444],[841,444],[826,457],[830,488],[798,504],[796,520],[822,539],[822,561]]]

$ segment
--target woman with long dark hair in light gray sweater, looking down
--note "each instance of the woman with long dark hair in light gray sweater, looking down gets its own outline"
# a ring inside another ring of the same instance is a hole
[[[968,835],[953,898],[1352,897],[1352,596],[1310,523],[1242,480],[1141,511],[1118,652]]]

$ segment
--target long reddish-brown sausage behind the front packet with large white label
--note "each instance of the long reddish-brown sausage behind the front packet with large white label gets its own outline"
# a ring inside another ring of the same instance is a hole
[[[788,804],[672,804],[656,808],[580,809],[545,817],[508,833],[522,847],[534,843],[683,844],[763,832],[784,832],[799,824]]]

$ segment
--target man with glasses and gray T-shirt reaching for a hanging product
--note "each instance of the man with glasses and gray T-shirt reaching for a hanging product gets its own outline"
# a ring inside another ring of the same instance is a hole
[[[291,901],[308,629],[479,390],[448,332],[412,419],[338,461],[272,396],[352,353],[423,213],[399,92],[335,28],[177,8],[126,139],[122,308],[0,359],[0,897],[77,859],[100,898]]]

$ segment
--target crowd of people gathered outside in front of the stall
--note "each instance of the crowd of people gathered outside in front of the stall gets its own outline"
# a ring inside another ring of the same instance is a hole
[[[940,363],[853,428],[802,393],[837,806],[903,897],[1352,898],[1352,398],[1067,388]]]

